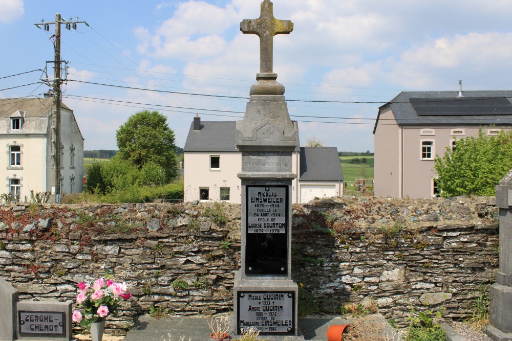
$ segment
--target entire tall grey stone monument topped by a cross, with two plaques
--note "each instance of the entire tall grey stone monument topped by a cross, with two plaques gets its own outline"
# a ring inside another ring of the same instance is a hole
[[[272,71],[273,36],[289,34],[290,20],[273,16],[264,0],[258,19],[243,33],[260,37],[261,65],[245,116],[237,122],[242,152],[242,266],[234,279],[234,331],[257,327],[261,335],[297,335],[297,284],[291,274],[292,152],[298,129],[290,120],[285,88]]]

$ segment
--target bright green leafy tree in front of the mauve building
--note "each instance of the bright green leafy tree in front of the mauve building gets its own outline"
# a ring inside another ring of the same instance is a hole
[[[439,174],[441,195],[496,195],[496,185],[512,169],[512,131],[489,136],[480,129],[478,136],[455,142],[444,156],[436,155],[434,168]]]

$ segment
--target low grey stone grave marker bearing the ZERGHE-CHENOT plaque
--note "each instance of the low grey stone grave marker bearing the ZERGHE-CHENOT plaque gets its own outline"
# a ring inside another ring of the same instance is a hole
[[[18,301],[18,290],[0,278],[0,341],[72,339],[72,302]]]

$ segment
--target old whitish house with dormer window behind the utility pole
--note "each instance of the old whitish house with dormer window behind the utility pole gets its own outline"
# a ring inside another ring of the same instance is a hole
[[[20,201],[51,191],[53,157],[53,98],[0,99],[0,193],[11,193]],[[83,189],[83,138],[73,110],[61,106],[61,193]],[[3,165],[2,165],[3,164]]]

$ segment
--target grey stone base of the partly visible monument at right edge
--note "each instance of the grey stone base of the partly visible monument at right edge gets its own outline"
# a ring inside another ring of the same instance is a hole
[[[512,340],[512,287],[494,283],[489,289],[487,335],[494,340]]]

